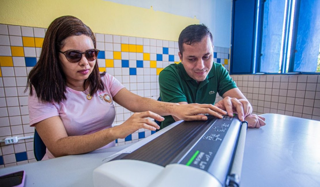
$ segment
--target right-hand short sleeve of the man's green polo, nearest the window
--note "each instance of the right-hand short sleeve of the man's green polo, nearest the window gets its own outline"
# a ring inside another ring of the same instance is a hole
[[[222,96],[228,90],[236,88],[235,81],[229,75],[229,72],[221,64],[216,66],[216,75],[218,75],[218,93]]]

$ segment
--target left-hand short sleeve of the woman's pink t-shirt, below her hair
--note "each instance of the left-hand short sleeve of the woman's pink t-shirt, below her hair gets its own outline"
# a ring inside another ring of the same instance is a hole
[[[28,110],[30,126],[49,117],[59,116],[57,106],[53,103],[39,101],[35,91],[32,96],[28,97]]]

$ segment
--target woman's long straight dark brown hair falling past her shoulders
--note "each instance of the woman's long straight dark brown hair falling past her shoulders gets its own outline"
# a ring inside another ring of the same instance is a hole
[[[59,50],[63,47],[67,37],[82,34],[89,36],[96,48],[96,39],[92,30],[80,19],[73,16],[62,16],[52,21],[44,36],[40,58],[28,75],[25,92],[29,87],[30,95],[33,95],[32,87],[34,87],[37,97],[44,102],[60,103],[66,99],[67,83],[59,62]],[[98,60],[96,60],[92,73],[84,81],[84,89],[89,83],[91,95],[98,90],[103,90],[104,86],[100,78],[103,75],[105,72],[100,74]]]

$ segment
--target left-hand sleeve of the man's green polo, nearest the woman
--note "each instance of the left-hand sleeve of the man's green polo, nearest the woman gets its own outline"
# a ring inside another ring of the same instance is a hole
[[[165,102],[188,102],[186,95],[182,92],[177,72],[162,70],[159,74],[159,88],[161,101]]]

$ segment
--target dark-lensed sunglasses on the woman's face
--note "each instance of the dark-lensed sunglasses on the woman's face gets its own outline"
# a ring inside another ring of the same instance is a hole
[[[89,49],[84,53],[76,50],[67,50],[65,52],[59,51],[60,53],[66,56],[67,60],[71,63],[77,63],[81,60],[82,54],[85,54],[85,57],[88,61],[94,61],[97,59],[99,50],[98,49]]]

